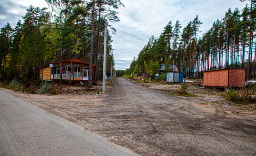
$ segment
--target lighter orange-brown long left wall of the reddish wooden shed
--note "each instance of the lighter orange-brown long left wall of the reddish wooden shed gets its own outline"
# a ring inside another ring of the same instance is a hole
[[[204,72],[204,86],[228,86],[229,70],[214,70]]]

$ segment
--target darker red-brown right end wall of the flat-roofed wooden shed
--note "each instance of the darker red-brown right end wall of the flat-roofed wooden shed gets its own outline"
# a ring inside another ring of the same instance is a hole
[[[242,87],[245,82],[245,69],[229,69],[229,86]]]

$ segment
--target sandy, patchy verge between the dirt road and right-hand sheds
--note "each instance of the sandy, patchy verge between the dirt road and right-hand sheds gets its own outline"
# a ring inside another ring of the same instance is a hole
[[[246,110],[256,112],[256,102],[242,104],[228,101],[225,97],[226,92],[224,91],[224,88],[203,87],[203,79],[188,80],[193,81],[191,83],[186,83],[188,86],[187,91],[191,94],[191,96],[184,97],[178,94],[173,94],[174,96],[182,97],[199,104],[217,105],[232,109],[234,111]],[[133,80],[132,82],[137,83],[141,86],[147,86],[149,88],[156,89],[166,94],[172,94],[173,91],[177,91],[179,88],[181,88],[181,83],[141,83],[141,81]]]

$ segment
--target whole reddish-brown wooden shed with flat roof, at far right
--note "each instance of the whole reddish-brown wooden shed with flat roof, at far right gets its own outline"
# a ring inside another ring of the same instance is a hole
[[[242,87],[245,78],[245,68],[225,68],[204,71],[204,86]]]

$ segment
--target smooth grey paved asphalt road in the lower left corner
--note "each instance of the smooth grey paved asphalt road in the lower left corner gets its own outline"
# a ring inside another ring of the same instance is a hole
[[[0,90],[0,156],[24,155],[136,154]]]

